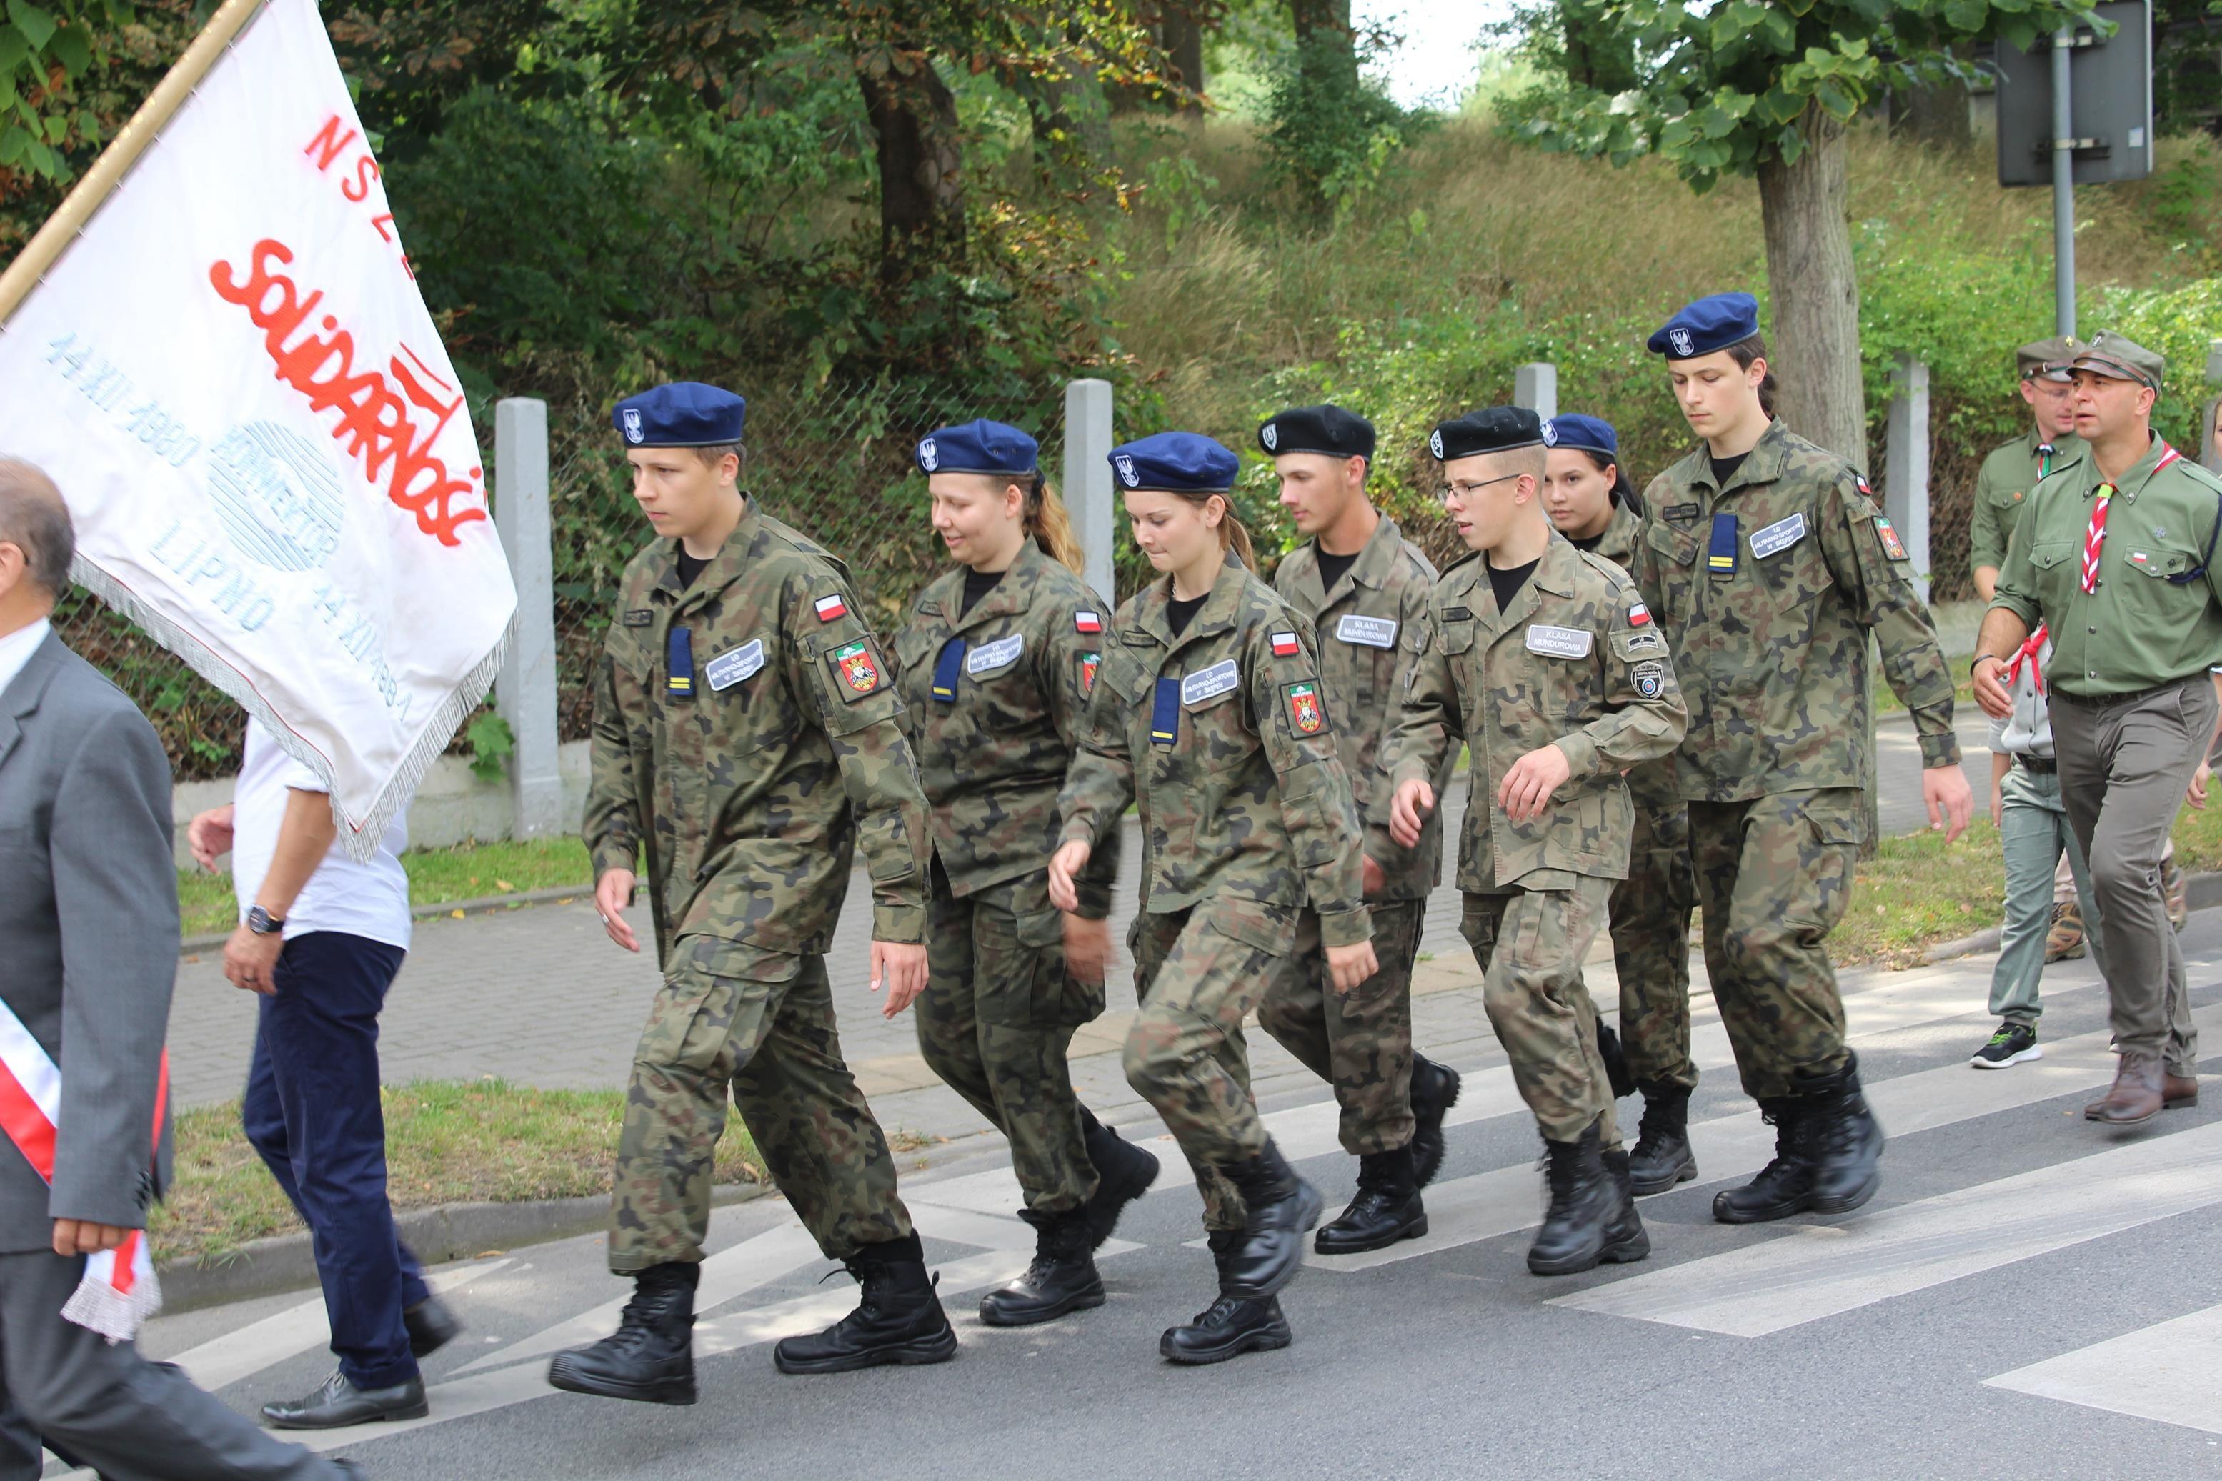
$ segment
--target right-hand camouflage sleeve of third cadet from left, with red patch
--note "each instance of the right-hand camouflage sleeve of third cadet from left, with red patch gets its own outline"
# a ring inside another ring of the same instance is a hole
[[[1289,613],[1293,617],[1293,613]],[[1280,779],[1280,822],[1304,875],[1304,895],[1320,913],[1324,946],[1373,939],[1364,904],[1364,835],[1358,799],[1335,753],[1335,717],[1320,684],[1320,646],[1311,624],[1298,619],[1298,651],[1273,655],[1271,624],[1253,624],[1242,655],[1258,744]]]

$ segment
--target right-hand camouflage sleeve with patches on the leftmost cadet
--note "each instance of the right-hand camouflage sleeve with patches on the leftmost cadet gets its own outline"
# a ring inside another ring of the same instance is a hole
[[[855,815],[858,848],[871,875],[871,939],[918,946],[927,939],[927,795],[918,790],[918,762],[902,737],[902,699],[895,675],[855,615],[855,595],[838,588],[844,613],[820,619],[815,600],[824,584],[795,582],[787,602],[789,682],[807,695]],[[809,635],[809,644],[798,642]]]

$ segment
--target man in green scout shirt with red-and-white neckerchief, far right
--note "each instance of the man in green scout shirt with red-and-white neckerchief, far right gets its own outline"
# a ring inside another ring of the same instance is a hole
[[[2153,435],[2160,355],[2102,333],[2075,357],[2078,449],[2038,482],[1975,642],[1975,697],[2013,699],[2000,666],[2053,637],[2053,757],[2104,930],[2091,937],[2120,1055],[2093,1121],[2135,1126],[2198,1101],[2184,955],[2160,899],[2160,848],[2206,759],[2222,664],[2222,480]]]

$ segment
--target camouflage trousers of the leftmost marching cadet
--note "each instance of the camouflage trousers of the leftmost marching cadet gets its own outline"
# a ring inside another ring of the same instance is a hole
[[[840,1057],[824,957],[682,937],[633,1050],[609,1208],[613,1272],[702,1259],[729,1088],[827,1259],[911,1232],[887,1137]]]

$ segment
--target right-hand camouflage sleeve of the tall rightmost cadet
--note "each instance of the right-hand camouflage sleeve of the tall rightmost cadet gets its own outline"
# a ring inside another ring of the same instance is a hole
[[[1831,484],[1815,511],[1829,575],[1851,604],[1853,619],[1873,631],[1882,648],[1882,677],[1913,715],[1922,766],[1960,764],[1960,737],[1951,728],[1951,666],[1938,642],[1935,619],[1913,591],[1904,542],[1866,493],[1866,480],[1849,469]]]

